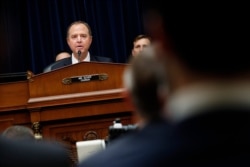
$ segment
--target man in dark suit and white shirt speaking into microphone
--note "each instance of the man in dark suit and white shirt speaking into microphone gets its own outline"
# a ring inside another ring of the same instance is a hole
[[[92,43],[92,31],[88,23],[76,21],[70,24],[67,30],[67,43],[72,51],[69,58],[56,61],[44,69],[44,72],[55,70],[78,62],[113,62],[109,57],[91,55],[89,48]]]

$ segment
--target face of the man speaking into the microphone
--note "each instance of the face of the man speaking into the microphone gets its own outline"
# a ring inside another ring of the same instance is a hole
[[[68,31],[67,43],[75,55],[78,51],[87,54],[92,43],[92,36],[84,24],[74,24]]]

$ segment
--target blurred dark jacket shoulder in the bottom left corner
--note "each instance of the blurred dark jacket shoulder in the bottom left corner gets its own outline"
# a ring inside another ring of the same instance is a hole
[[[58,143],[11,140],[0,136],[1,167],[70,167],[68,152]]]

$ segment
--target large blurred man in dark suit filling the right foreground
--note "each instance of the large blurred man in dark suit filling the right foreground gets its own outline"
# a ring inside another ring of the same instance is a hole
[[[169,126],[117,141],[82,167],[250,166],[247,5],[149,1],[145,29],[166,67]]]

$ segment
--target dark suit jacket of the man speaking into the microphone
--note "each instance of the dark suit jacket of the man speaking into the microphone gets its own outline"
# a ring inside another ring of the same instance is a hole
[[[113,60],[111,58],[108,57],[101,57],[101,56],[90,56],[90,61],[96,61],[96,62],[113,62]],[[69,58],[65,58],[59,61],[56,61],[52,64],[50,64],[49,66],[47,66],[43,72],[48,72],[51,70],[55,70],[64,66],[68,66],[72,64],[72,59],[71,57]]]

